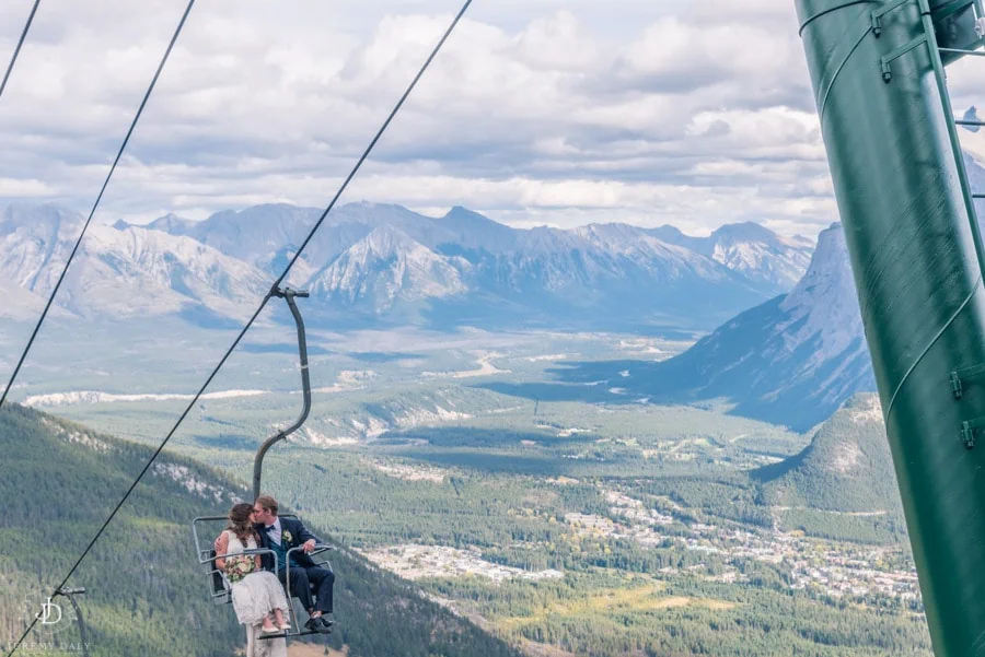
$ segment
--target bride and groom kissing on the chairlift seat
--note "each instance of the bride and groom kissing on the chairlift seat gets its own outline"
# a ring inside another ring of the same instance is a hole
[[[282,586],[290,576],[291,595],[301,600],[310,617],[304,626],[328,634],[333,625],[327,614],[332,613],[335,574],[309,555],[318,543],[317,538],[300,520],[281,518],[277,512],[277,501],[269,495],[257,497],[254,504],[236,504],[229,512],[229,526],[216,539],[216,567],[230,584],[236,619],[243,625],[262,625],[262,634],[290,630],[290,601]],[[291,553],[288,568],[288,552],[294,548],[301,551]],[[236,556],[257,549],[273,554]]]

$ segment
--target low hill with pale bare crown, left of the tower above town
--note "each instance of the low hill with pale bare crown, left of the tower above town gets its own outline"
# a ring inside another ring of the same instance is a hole
[[[800,454],[761,468],[767,503],[902,518],[896,473],[874,394],[853,397],[814,432]]]

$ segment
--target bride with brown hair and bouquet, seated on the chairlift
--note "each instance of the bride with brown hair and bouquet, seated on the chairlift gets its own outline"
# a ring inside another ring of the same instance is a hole
[[[262,634],[279,634],[291,629],[285,619],[288,600],[274,573],[260,570],[258,554],[236,556],[256,550],[253,505],[236,504],[229,512],[229,527],[216,542],[216,567],[225,573],[232,590],[233,609],[247,630],[263,624]]]

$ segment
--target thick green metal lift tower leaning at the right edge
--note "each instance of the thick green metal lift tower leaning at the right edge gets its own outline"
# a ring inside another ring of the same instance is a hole
[[[934,648],[985,656],[985,251],[945,77],[982,0],[795,1]]]

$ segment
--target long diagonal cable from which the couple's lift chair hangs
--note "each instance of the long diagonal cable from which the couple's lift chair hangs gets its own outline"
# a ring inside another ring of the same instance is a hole
[[[185,411],[181,414],[181,417],[178,418],[177,422],[175,422],[175,424],[171,429],[171,431],[167,432],[167,435],[164,437],[164,439],[161,442],[161,444],[158,446],[158,448],[151,455],[150,459],[147,461],[147,465],[143,466],[143,469],[140,471],[140,473],[137,476],[137,478],[134,480],[134,483],[131,483],[130,488],[127,489],[127,492],[124,493],[123,498],[119,501],[119,503],[117,503],[116,507],[113,509],[113,512],[106,518],[106,520],[103,523],[102,527],[100,527],[100,530],[89,542],[89,545],[86,545],[85,550],[82,551],[82,554],[76,561],[74,565],[72,565],[72,567],[69,570],[68,574],[65,576],[65,579],[62,579],[61,584],[59,584],[55,588],[56,591],[63,588],[66,586],[66,584],[68,584],[68,580],[71,579],[72,575],[74,575],[76,571],[79,568],[79,565],[81,565],[82,561],[89,555],[89,552],[95,545],[96,541],[99,541],[100,538],[103,536],[103,533],[106,531],[106,528],[109,526],[109,523],[113,521],[113,519],[116,517],[116,514],[119,513],[119,509],[123,507],[123,505],[129,498],[130,494],[134,492],[134,490],[140,483],[140,481],[143,479],[143,476],[147,474],[148,470],[150,470],[151,466],[157,460],[158,456],[160,456],[161,453],[164,450],[165,445],[167,445],[167,443],[174,436],[175,432],[177,432],[178,427],[182,425],[182,423],[185,421],[185,419],[188,417],[188,414],[195,408],[195,404],[198,403],[199,398],[201,398],[201,396],[205,394],[206,389],[212,383],[212,379],[216,378],[216,376],[219,374],[219,371],[222,369],[222,366],[225,365],[225,362],[229,360],[229,357],[235,351],[236,347],[239,347],[240,342],[246,336],[246,332],[250,330],[250,328],[256,321],[256,318],[259,317],[259,314],[264,310],[267,303],[274,296],[274,291],[277,290],[277,288],[280,285],[280,283],[282,283],[283,280],[288,277],[288,274],[291,271],[291,268],[293,268],[294,263],[298,261],[298,258],[301,257],[301,254],[304,250],[304,248],[309,245],[309,243],[315,236],[315,233],[317,233],[318,228],[322,227],[322,224],[324,223],[325,218],[328,216],[328,213],[332,212],[332,209],[338,202],[338,199],[341,197],[341,195],[348,188],[349,183],[352,181],[352,178],[355,178],[356,174],[359,173],[359,169],[362,168],[363,163],[370,156],[370,153],[372,153],[373,149],[376,146],[376,143],[383,137],[383,133],[386,132],[387,128],[390,128],[390,125],[393,122],[393,119],[396,118],[397,113],[404,106],[404,103],[410,96],[410,93],[417,86],[417,83],[420,81],[421,77],[425,74],[425,72],[428,70],[428,68],[430,68],[431,62],[434,61],[434,58],[438,56],[438,52],[441,51],[441,48],[444,46],[444,43],[452,35],[455,27],[459,25],[462,17],[465,15],[465,12],[468,11],[468,8],[472,5],[472,2],[473,2],[473,0],[466,0],[465,4],[462,5],[462,9],[455,15],[451,25],[449,25],[448,30],[442,35],[441,40],[439,40],[438,45],[434,46],[433,50],[431,50],[431,54],[428,56],[427,60],[425,60],[424,64],[420,67],[420,70],[417,72],[417,75],[414,77],[414,80],[410,82],[409,86],[407,86],[407,90],[404,92],[404,95],[402,95],[401,99],[397,101],[397,104],[394,106],[393,110],[390,113],[390,116],[386,117],[386,120],[383,122],[383,126],[376,131],[376,134],[373,137],[372,141],[370,141],[370,144],[367,146],[366,151],[363,151],[362,155],[359,157],[359,161],[356,163],[356,166],[352,167],[352,171],[346,177],[345,181],[341,184],[341,187],[338,188],[338,191],[335,193],[332,201],[328,203],[328,207],[325,208],[325,211],[322,213],[318,221],[315,222],[314,226],[312,226],[311,231],[309,232],[308,237],[305,237],[304,242],[301,243],[301,247],[298,248],[298,253],[294,254],[294,257],[291,258],[290,262],[285,268],[283,272],[274,282],[274,285],[271,285],[270,291],[267,292],[267,294],[264,296],[263,301],[260,302],[259,307],[256,309],[256,312],[253,314],[253,316],[246,322],[246,326],[244,326],[243,329],[240,331],[240,333],[236,336],[236,339],[233,340],[233,343],[225,351],[225,354],[219,361],[219,364],[216,365],[216,368],[212,369],[212,373],[209,374],[205,384],[202,384],[202,386],[201,386],[201,388],[199,388],[198,392],[195,394],[194,399],[192,399],[192,401],[188,402],[188,406],[185,409]],[[7,657],[13,657],[13,654],[18,652],[18,648],[24,642],[24,638],[26,638],[27,634],[31,633],[31,631],[34,629],[34,626],[36,624],[37,624],[37,618],[35,617],[35,619],[31,622],[31,624],[27,626],[27,629],[24,630],[24,633],[18,640],[18,643],[14,645],[13,649],[10,653],[8,653]]]

